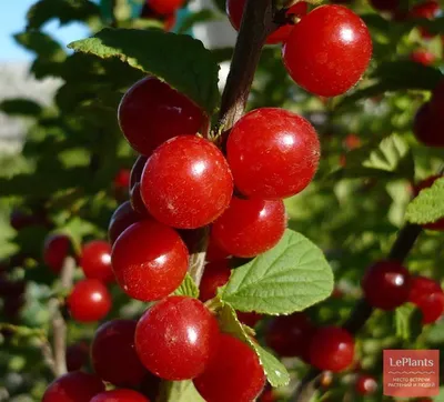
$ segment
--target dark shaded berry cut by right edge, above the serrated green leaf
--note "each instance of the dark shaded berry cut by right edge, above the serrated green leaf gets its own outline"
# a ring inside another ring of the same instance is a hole
[[[433,109],[433,103],[425,102],[415,114],[413,133],[421,143],[432,148],[441,148],[444,147],[442,124],[444,124],[443,114]]]

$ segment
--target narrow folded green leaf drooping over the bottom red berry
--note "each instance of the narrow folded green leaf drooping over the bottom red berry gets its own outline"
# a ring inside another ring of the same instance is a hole
[[[222,332],[239,338],[256,352],[265,375],[272,386],[283,386],[289,384],[290,375],[285,366],[273,354],[260,346],[251,336],[249,336],[246,332],[249,326],[241,324],[234,309],[230,304],[223,304],[222,309],[219,311],[219,322]]]

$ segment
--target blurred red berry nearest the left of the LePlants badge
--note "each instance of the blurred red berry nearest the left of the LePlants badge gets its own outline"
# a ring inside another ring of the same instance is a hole
[[[309,359],[320,370],[340,372],[352,364],[354,340],[337,326],[317,329],[310,342]]]

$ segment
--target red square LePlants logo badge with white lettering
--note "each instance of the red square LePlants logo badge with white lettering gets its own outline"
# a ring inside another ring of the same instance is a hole
[[[415,398],[440,393],[440,351],[384,350],[384,395]]]

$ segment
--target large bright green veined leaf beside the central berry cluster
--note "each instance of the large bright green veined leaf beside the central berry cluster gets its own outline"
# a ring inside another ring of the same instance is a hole
[[[234,270],[220,292],[240,311],[290,314],[330,297],[333,273],[322,251],[302,234],[286,230],[270,251]]]

